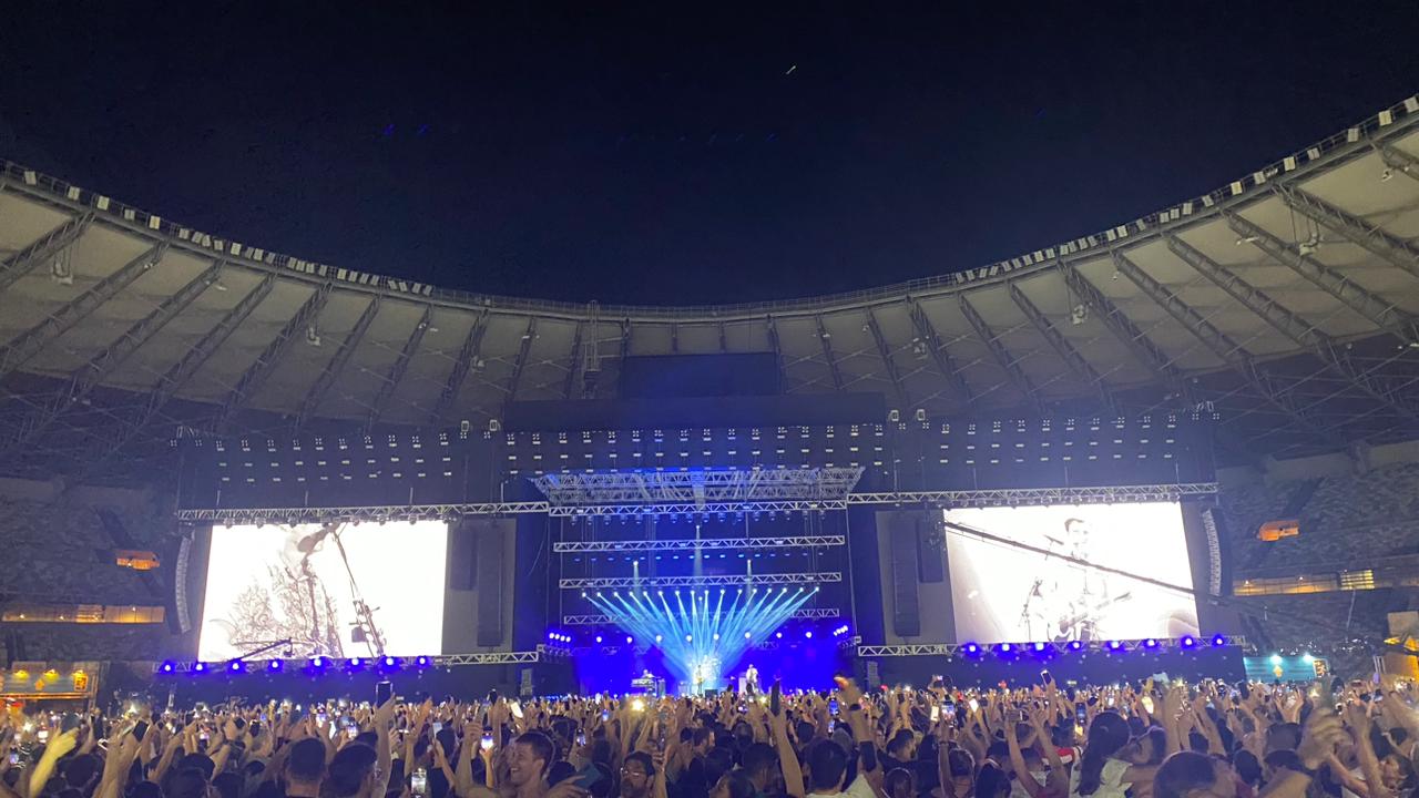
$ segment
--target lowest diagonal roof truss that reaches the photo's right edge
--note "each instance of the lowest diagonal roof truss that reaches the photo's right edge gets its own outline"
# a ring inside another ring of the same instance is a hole
[[[1389,408],[1410,419],[1419,417],[1419,412],[1410,408],[1399,396],[1395,396],[1386,386],[1381,385],[1368,373],[1357,368],[1355,364],[1351,362],[1349,355],[1337,346],[1328,335],[1317,329],[1313,324],[1283,307],[1260,288],[1250,285],[1235,273],[1226,270],[1222,264],[1195,250],[1186,241],[1171,234],[1165,237],[1168,240],[1168,248],[1171,248],[1174,254],[1185,260],[1203,277],[1226,291],[1233,300],[1270,324],[1277,332],[1286,335],[1297,346],[1310,349],[1323,364],[1345,378],[1351,385],[1359,388],[1372,399],[1384,402]]]

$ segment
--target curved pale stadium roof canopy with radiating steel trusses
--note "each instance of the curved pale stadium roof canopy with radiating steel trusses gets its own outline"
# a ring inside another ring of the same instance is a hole
[[[626,355],[715,352],[904,419],[1210,403],[1235,453],[1283,457],[1419,434],[1419,98],[1094,234],[790,301],[475,295],[230,233],[3,163],[0,473],[132,470],[184,426],[481,426],[612,396]]]

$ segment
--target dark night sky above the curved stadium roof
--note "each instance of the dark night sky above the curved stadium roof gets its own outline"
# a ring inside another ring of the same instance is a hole
[[[10,0],[0,158],[350,268],[697,304],[1093,233],[1419,89],[1413,0],[382,6]]]

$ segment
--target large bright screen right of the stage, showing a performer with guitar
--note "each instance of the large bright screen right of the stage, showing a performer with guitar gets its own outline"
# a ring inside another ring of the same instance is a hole
[[[945,520],[958,640],[1198,633],[1175,501],[959,508]]]

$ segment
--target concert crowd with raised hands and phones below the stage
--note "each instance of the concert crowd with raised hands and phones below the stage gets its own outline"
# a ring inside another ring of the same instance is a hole
[[[0,798],[1409,798],[1410,683],[126,707],[0,723]]]

